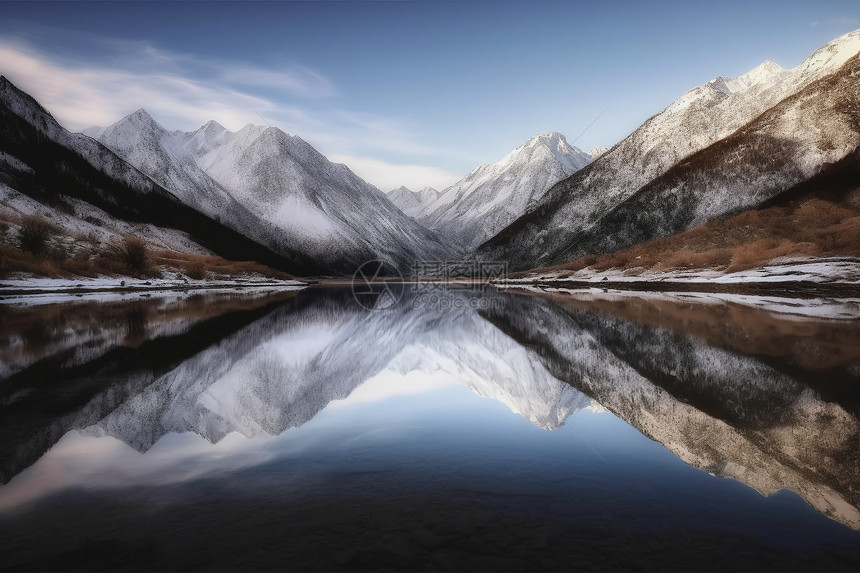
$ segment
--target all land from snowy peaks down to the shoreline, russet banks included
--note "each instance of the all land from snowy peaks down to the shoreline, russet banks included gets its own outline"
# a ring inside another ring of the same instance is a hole
[[[500,285],[856,286],[858,52],[860,30],[693,88],[609,149],[544,133],[446,189],[387,193],[275,127],[171,131],[139,109],[72,133],[2,77],[0,280],[298,284],[475,260],[506,264]]]

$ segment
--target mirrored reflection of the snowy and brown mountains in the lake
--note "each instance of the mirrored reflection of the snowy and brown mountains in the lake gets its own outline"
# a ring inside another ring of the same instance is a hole
[[[420,288],[400,294],[393,306],[368,310],[372,304],[359,304],[349,289],[309,289],[251,304],[258,310],[245,311],[244,322],[195,317],[173,327],[163,317],[167,324],[154,327],[156,315],[138,309],[144,314],[136,326],[127,320],[120,329],[124,367],[105,362],[109,351],[89,358],[51,352],[50,340],[30,335],[37,359],[8,379],[21,392],[0,404],[4,420],[39,407],[33,400],[45,389],[25,383],[33,373],[62,366],[77,369],[78,378],[91,371],[100,382],[83,405],[69,402],[44,429],[7,432],[6,440],[18,441],[3,446],[14,452],[4,456],[4,475],[71,429],[113,436],[140,452],[173,433],[212,444],[231,433],[268,439],[307,424],[380,374],[418,371],[460,381],[548,430],[583,408],[606,408],[687,464],[764,495],[790,489],[860,528],[858,325],[721,300],[447,290],[434,293],[445,304],[430,304]],[[177,320],[194,314],[174,313]],[[63,328],[74,329],[75,320]],[[196,320],[209,321],[210,342],[201,341]],[[24,336],[32,322],[9,324]],[[136,370],[135,353],[151,354],[159,337],[186,348],[184,357]]]

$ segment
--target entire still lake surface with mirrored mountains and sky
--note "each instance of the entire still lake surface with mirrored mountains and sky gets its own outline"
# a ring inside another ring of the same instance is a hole
[[[860,569],[856,300],[36,302],[0,302],[0,569]]]

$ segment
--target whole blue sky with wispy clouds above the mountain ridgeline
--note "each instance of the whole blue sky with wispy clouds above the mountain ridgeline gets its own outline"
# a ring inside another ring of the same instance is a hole
[[[383,190],[441,188],[545,131],[611,146],[857,28],[836,0],[0,2],[0,73],[70,129],[140,107],[168,129],[265,121]]]

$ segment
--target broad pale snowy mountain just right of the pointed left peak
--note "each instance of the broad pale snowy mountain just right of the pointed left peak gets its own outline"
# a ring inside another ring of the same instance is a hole
[[[205,127],[201,128],[205,131]],[[323,265],[352,273],[381,259],[406,273],[451,248],[345,165],[273,127],[187,134],[197,164],[248,210]]]

